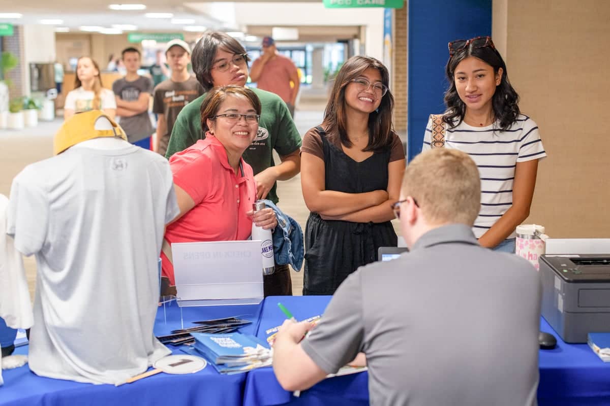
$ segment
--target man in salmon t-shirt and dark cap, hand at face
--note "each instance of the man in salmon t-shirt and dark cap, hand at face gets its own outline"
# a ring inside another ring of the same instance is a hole
[[[295,116],[296,95],[299,93],[300,85],[299,74],[295,63],[278,53],[273,38],[263,38],[263,54],[253,62],[250,79],[257,82],[257,88],[281,97],[288,106],[290,115]]]

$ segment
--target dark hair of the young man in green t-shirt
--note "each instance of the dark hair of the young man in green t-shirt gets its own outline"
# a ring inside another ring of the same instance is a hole
[[[195,72],[199,85],[203,86],[206,92],[214,87],[210,71],[214,65],[218,49],[237,55],[246,53],[242,44],[231,35],[221,31],[204,32],[203,37],[197,41],[193,48],[191,65],[193,65],[193,72]],[[250,58],[246,56],[246,62],[249,60]]]

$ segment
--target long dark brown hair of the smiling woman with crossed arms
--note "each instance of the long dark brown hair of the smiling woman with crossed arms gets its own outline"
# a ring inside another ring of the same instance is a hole
[[[356,79],[368,68],[375,68],[381,74],[381,82],[388,87],[388,91],[381,98],[378,112],[368,115],[368,145],[363,151],[381,152],[392,144],[394,129],[392,127],[392,111],[394,110],[394,96],[390,93],[390,74],[379,60],[371,57],[351,57],[341,67],[335,84],[332,86],[332,96],[328,100],[324,111],[323,127],[328,133],[339,134],[339,139],[346,147],[352,143],[347,135],[347,115],[345,113],[345,88],[350,81]]]

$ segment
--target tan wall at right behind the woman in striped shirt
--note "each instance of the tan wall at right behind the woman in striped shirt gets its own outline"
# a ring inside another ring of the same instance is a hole
[[[506,38],[519,106],[548,153],[526,222],[551,237],[610,237],[608,21],[606,0],[510,0],[506,24],[493,26],[493,37]]]

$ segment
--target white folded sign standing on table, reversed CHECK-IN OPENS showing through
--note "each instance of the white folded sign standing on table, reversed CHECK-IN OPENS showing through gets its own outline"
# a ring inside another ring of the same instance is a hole
[[[260,240],[171,244],[178,306],[257,304],[263,299]]]

